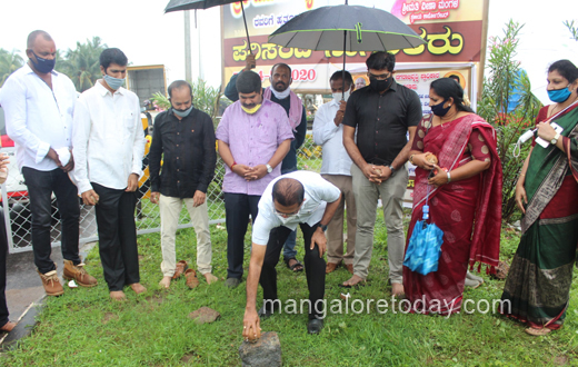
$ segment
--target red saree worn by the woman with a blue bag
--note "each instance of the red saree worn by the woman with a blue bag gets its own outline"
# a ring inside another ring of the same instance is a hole
[[[494,271],[494,267],[498,265],[501,163],[496,151],[494,128],[474,113],[437,127],[431,126],[431,118],[425,118],[418,128],[418,136],[422,141],[415,143],[413,149],[435,153],[440,167],[452,170],[474,159],[474,141],[470,141],[474,131],[477,139],[485,141],[481,151],[491,157],[491,165],[480,175],[451,181],[439,188],[430,187],[430,222],[444,231],[444,244],[437,271],[422,276],[403,267],[403,287],[413,313],[458,311],[468,264],[487,264],[489,271]],[[413,210],[407,242],[413,226],[422,218],[428,175],[427,170],[416,169]]]

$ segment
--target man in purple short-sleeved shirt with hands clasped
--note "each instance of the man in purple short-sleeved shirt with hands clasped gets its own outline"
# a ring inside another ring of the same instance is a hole
[[[225,285],[229,288],[241,282],[249,215],[255,221],[259,199],[267,185],[280,176],[279,163],[293,139],[285,109],[263,100],[258,73],[240,75],[237,91],[239,100],[225,110],[216,131],[219,155],[227,165],[222,191],[229,264]]]

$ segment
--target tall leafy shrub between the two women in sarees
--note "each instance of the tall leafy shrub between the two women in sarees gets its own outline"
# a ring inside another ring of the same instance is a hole
[[[498,153],[504,169],[502,218],[509,222],[519,217],[516,207],[516,182],[528,155],[529,143],[521,148],[518,158],[512,155],[520,135],[534,126],[542,107],[531,93],[530,81],[520,62],[516,61],[518,36],[524,24],[510,20],[504,37],[490,37],[489,58],[478,115],[491,123],[497,132]],[[517,214],[515,216],[515,214]]]

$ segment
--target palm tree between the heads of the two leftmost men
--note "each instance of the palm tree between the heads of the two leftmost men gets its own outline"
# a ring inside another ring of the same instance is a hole
[[[101,43],[100,37],[87,39],[86,43],[77,42],[77,49],[68,49],[66,58],[60,65],[61,72],[66,73],[79,92],[91,88],[100,78],[100,53],[107,49],[107,44]]]

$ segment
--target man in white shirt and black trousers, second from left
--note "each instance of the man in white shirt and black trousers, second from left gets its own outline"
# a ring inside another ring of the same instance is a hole
[[[127,63],[121,50],[102,51],[103,79],[79,97],[72,131],[73,177],[84,205],[96,206],[100,260],[114,300],[126,298],[127,285],[137,294],[147,290],[140,285],[134,224],[144,135],[139,98],[121,87]]]

